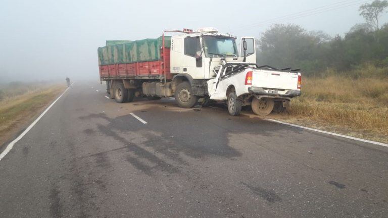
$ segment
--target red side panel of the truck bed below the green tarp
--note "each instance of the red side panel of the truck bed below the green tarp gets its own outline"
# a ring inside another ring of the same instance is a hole
[[[161,49],[163,50],[163,49]],[[100,65],[101,80],[108,79],[171,79],[170,73],[170,48],[165,48],[166,63],[163,64],[163,52],[161,60],[153,62],[136,62],[131,64]]]

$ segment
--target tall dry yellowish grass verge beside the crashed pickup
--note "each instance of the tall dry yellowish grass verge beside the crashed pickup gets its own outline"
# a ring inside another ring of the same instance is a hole
[[[356,77],[304,78],[303,95],[286,113],[269,117],[388,143],[388,77],[381,73],[387,69],[368,70]]]

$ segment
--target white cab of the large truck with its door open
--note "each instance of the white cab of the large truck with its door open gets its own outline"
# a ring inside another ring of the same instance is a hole
[[[253,37],[245,37],[248,45],[248,62],[256,63]],[[243,52],[241,52],[242,54]],[[215,78],[213,68],[222,60],[228,63],[241,62],[236,37],[219,33],[212,27],[200,28],[197,32],[172,36],[170,50],[171,74],[188,74],[192,79]]]

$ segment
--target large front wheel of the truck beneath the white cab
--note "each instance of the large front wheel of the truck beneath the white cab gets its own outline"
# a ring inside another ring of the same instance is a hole
[[[190,108],[198,101],[197,96],[193,95],[191,86],[188,82],[180,83],[175,89],[174,96],[178,105],[184,108]]]

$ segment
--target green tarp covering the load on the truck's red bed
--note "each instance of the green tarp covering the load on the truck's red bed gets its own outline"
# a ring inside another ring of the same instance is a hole
[[[165,36],[165,47],[170,47],[171,36]],[[160,60],[162,36],[136,41],[112,40],[98,48],[99,65],[129,64]]]

